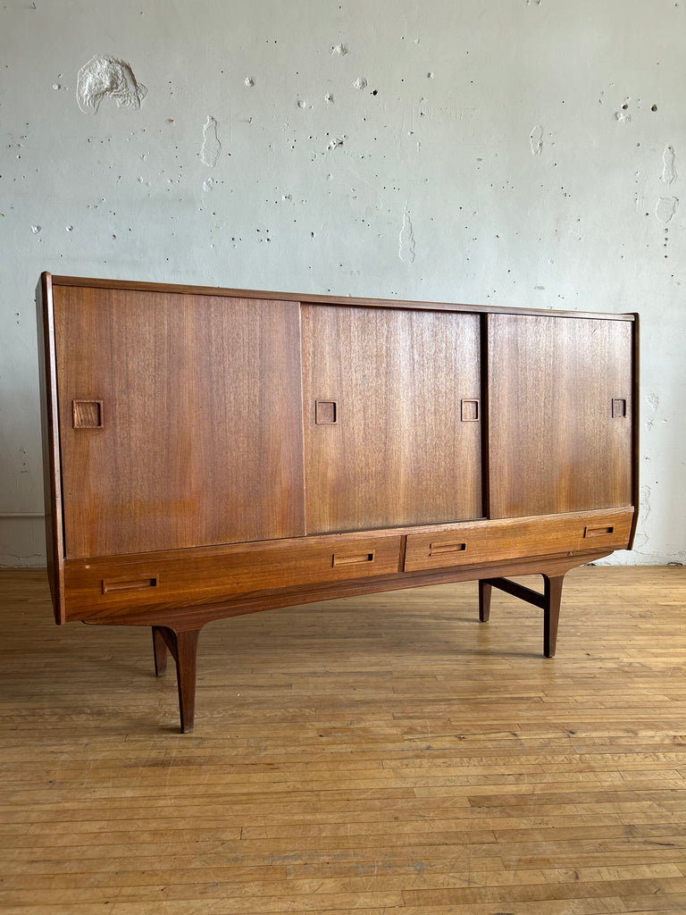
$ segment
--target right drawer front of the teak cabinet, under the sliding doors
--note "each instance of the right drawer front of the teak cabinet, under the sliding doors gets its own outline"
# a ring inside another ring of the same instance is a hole
[[[405,572],[480,565],[503,559],[626,548],[633,509],[456,524],[409,534]]]

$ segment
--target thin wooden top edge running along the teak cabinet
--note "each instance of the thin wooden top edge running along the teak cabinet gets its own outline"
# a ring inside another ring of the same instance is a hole
[[[634,313],[601,313],[590,311],[563,311],[554,308],[517,308],[497,305],[469,305],[456,302],[425,302],[419,300],[359,298],[354,296],[319,296],[306,293],[273,292],[259,289],[233,289],[223,286],[153,283],[148,281],[115,280],[89,276],[61,276],[44,271],[40,281],[54,286],[82,286],[95,289],[123,289],[139,292],[176,293],[190,296],[226,296],[229,298],[274,299],[281,302],[300,302],[304,305],[338,305],[371,308],[413,308],[431,311],[461,311],[474,314],[500,315],[554,315],[566,318],[604,318],[633,321]]]

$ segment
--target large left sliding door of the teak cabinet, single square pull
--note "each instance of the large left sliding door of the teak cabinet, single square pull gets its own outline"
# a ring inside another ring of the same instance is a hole
[[[297,304],[57,286],[54,307],[68,557],[304,533]],[[102,402],[91,427],[75,400]]]

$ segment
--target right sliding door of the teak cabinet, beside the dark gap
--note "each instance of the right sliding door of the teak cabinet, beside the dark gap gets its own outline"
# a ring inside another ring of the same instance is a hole
[[[628,321],[488,316],[489,517],[632,504],[632,334]]]

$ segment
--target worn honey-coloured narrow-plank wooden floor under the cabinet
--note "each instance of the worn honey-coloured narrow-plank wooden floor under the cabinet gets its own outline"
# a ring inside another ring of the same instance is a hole
[[[686,569],[274,610],[200,636],[177,732],[150,630],[58,628],[0,573],[4,915],[686,912]]]

